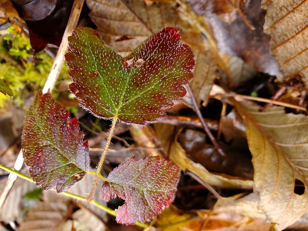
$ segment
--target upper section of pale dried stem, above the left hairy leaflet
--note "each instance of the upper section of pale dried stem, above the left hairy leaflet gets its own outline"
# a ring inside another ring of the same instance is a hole
[[[59,74],[61,72],[64,60],[65,60],[64,55],[68,49],[67,37],[72,35],[73,30],[77,26],[78,19],[79,19],[81,9],[83,6],[83,2],[84,0],[74,1],[70,18],[68,19],[67,26],[65,28],[58,53],[56,55],[54,63],[52,64],[51,71],[48,75],[45,86],[43,88],[43,93],[46,93],[48,91],[51,92],[53,88],[55,87],[55,83],[57,82],[57,79],[59,77]]]

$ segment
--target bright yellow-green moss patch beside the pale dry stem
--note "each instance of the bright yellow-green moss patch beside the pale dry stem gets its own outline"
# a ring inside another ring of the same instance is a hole
[[[45,51],[33,59],[29,39],[20,34],[14,36],[13,27],[7,29],[6,35],[0,36],[0,44],[0,79],[8,83],[14,93],[14,98],[0,94],[0,108],[11,103],[25,108],[26,98],[43,88],[54,60]],[[66,64],[59,76],[59,80],[62,79],[69,79]],[[58,95],[56,87],[53,95]]]

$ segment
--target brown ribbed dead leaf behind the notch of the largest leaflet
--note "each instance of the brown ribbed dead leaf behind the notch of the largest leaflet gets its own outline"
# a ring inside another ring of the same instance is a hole
[[[122,56],[129,55],[145,39],[164,27],[176,25],[172,4],[144,1],[87,0],[91,20],[108,47]]]

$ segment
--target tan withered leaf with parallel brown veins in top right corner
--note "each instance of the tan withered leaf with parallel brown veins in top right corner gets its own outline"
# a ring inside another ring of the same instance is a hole
[[[262,0],[266,10],[264,32],[270,34],[270,49],[283,77],[300,74],[308,86],[308,2]]]

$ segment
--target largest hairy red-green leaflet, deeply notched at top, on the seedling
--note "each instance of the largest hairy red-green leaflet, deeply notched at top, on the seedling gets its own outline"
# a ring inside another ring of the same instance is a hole
[[[193,52],[172,27],[125,58],[106,47],[90,28],[76,29],[69,49],[65,57],[73,80],[70,90],[83,108],[100,118],[116,116],[139,125],[155,122],[186,94],[183,85],[193,78]],[[143,63],[136,66],[140,59]]]

